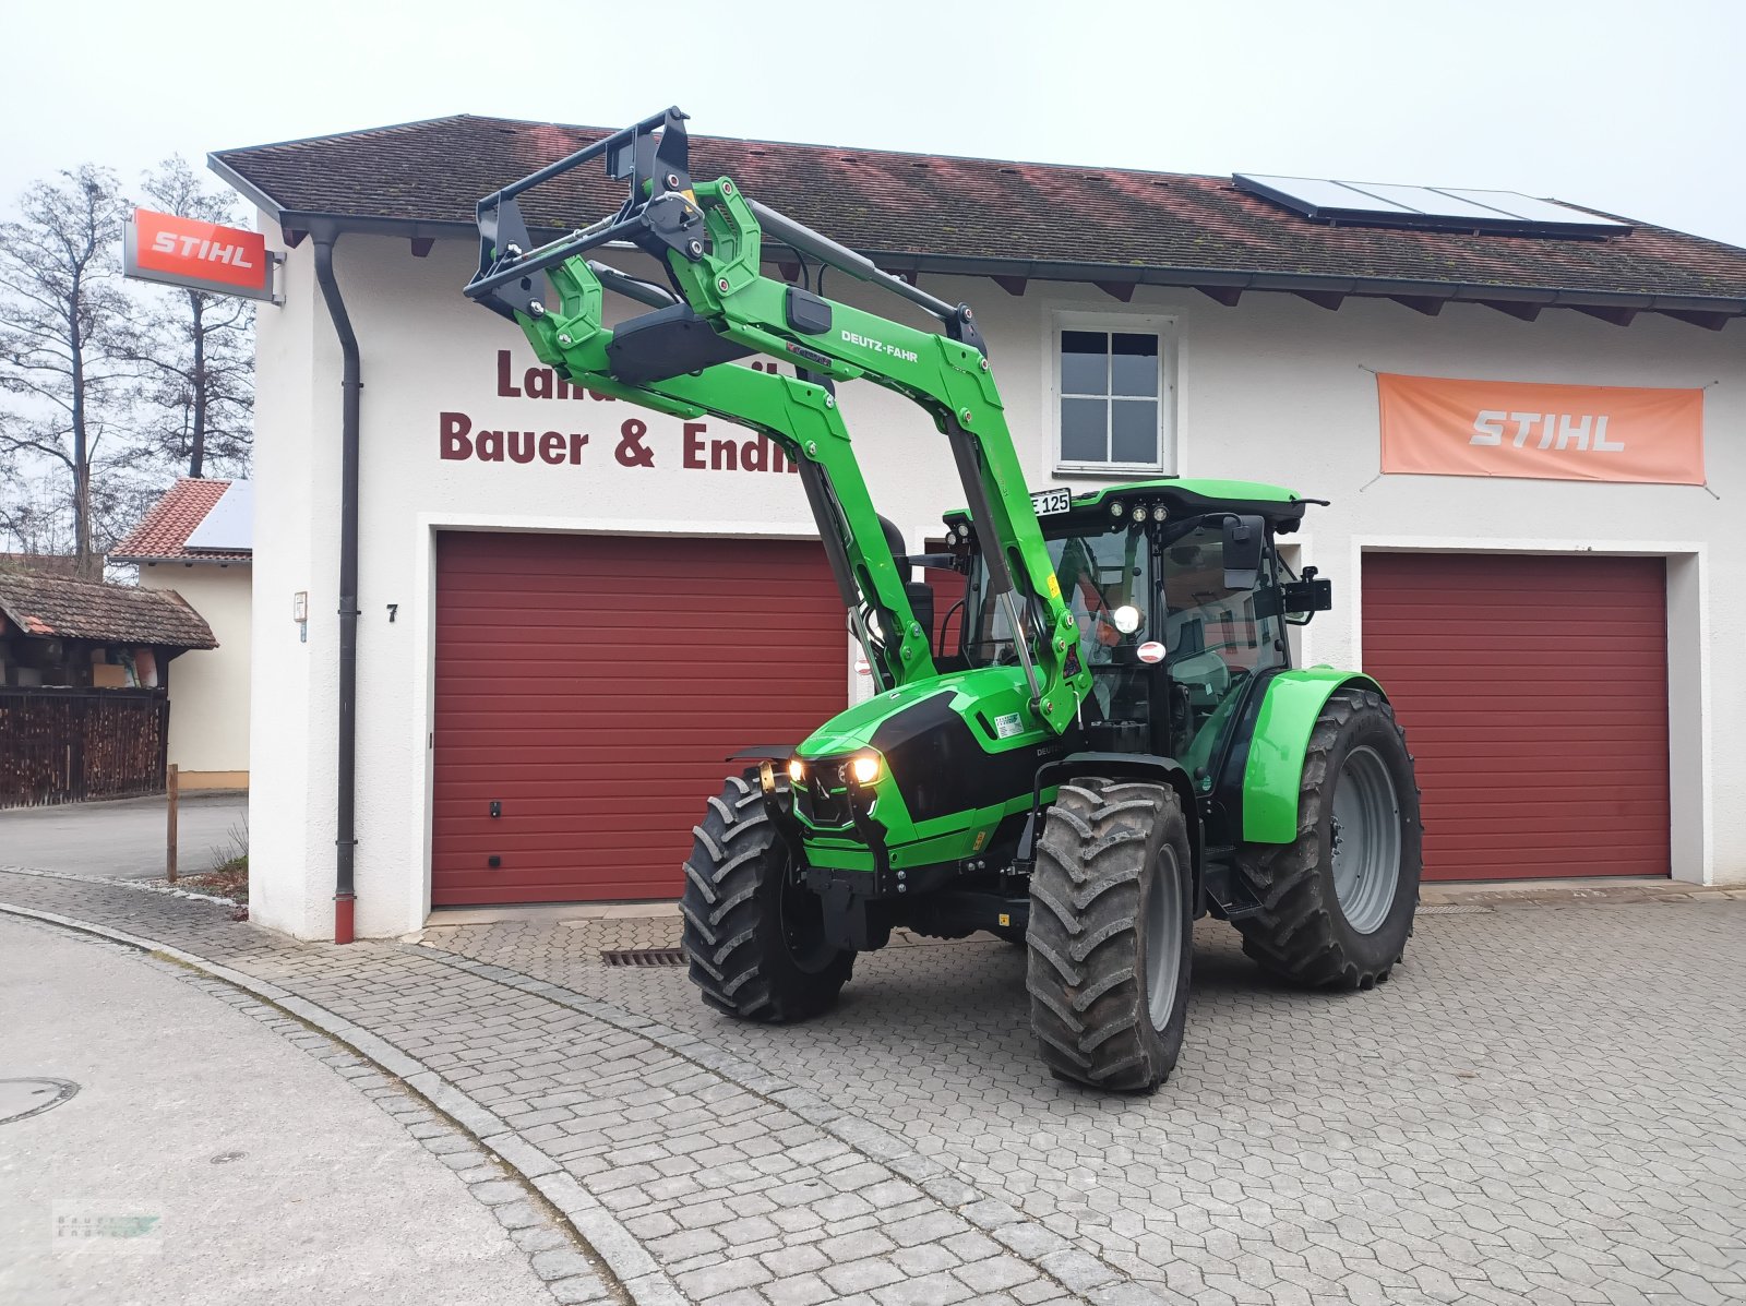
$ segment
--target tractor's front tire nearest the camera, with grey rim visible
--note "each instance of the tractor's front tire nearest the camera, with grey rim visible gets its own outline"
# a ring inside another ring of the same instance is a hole
[[[1189,1009],[1194,863],[1159,784],[1062,784],[1030,875],[1030,1025],[1058,1079],[1151,1093]]]

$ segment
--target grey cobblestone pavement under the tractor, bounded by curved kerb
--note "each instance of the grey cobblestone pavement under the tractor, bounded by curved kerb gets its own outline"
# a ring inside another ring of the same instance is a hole
[[[0,875],[0,901],[335,1013],[637,1301],[1746,1299],[1746,903],[1720,896],[1426,913],[1362,995],[1273,986],[1203,924],[1152,1098],[1049,1079],[990,941],[863,957],[835,1013],[763,1028],[601,964],[670,918],[340,950],[103,885]]]

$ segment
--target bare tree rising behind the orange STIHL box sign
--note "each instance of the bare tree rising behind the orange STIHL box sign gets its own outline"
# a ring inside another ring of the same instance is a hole
[[[236,223],[227,192],[208,190],[182,157],[145,178],[145,194],[164,213]],[[190,477],[246,475],[255,407],[255,306],[204,290],[166,288],[134,332],[129,356],[147,381],[140,435],[147,447]]]

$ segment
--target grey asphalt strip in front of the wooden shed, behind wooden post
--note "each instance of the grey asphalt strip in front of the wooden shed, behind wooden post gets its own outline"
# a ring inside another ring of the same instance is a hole
[[[183,875],[210,871],[248,843],[248,794],[183,794],[176,814]],[[0,812],[0,866],[155,880],[164,873],[164,800],[19,807]]]

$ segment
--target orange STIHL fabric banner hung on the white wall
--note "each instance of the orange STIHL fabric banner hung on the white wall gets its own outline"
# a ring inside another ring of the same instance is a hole
[[[1704,391],[1376,377],[1383,471],[1704,484]]]

